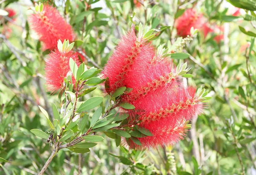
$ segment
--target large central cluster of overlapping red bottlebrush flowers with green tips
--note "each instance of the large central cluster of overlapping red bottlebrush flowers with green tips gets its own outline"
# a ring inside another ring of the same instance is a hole
[[[207,92],[183,87],[186,63],[172,64],[171,54],[162,46],[154,49],[149,41],[154,34],[139,27],[138,37],[132,28],[122,37],[103,70],[106,92],[129,89],[119,98],[119,105],[130,115],[128,123],[148,135],[126,138],[131,148],[145,149],[174,143],[185,135],[188,121],[202,112]],[[129,104],[131,104],[130,107]],[[127,107],[128,106],[128,107]],[[134,108],[134,109],[132,109]]]

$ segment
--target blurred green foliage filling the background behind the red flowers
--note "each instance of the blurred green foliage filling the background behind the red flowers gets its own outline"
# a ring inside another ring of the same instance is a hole
[[[42,0],[55,6],[76,31],[76,48],[88,66],[102,68],[122,34],[140,22],[157,29],[155,45],[180,38],[175,20],[195,8],[213,28],[182,52],[192,67],[189,85],[203,86],[212,99],[183,141],[157,150],[136,151],[105,140],[90,152],[60,150],[47,174],[256,174],[256,2],[253,0]],[[51,153],[46,140],[30,130],[47,130],[38,105],[51,111],[57,94],[46,92],[41,42],[27,17],[34,1],[0,0],[15,10],[0,16],[0,174],[38,174]],[[239,14],[234,13],[238,10]],[[220,40],[216,40],[219,36]],[[179,58],[174,59],[175,62]],[[90,95],[102,93],[99,86]],[[11,162],[8,162],[11,161]]]

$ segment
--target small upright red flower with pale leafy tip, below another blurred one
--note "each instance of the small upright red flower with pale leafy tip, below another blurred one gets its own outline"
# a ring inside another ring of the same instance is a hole
[[[52,92],[61,89],[63,87],[64,78],[72,75],[69,66],[70,58],[72,58],[78,66],[80,65],[78,55],[71,51],[74,43],[67,44],[67,47],[65,47],[65,43],[66,40],[64,40],[63,45],[59,40],[58,49],[52,51],[49,54],[49,58],[46,60],[46,84],[48,90]],[[75,82],[74,76],[72,76],[72,81],[73,83]]]

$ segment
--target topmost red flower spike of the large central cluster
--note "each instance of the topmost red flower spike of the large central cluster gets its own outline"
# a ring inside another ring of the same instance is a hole
[[[102,71],[103,77],[109,78],[108,91],[113,93],[117,88],[126,86],[128,74],[138,68],[142,69],[152,57],[154,57],[154,47],[143,39],[139,41],[134,28],[128,31],[128,34],[123,36],[118,43]],[[131,79],[134,77],[131,76]]]

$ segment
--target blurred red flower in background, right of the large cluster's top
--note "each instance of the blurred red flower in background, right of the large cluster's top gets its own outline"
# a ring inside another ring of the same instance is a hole
[[[193,8],[187,9],[175,22],[177,35],[183,38],[187,37],[190,35],[190,28],[200,29],[204,21],[203,14],[197,13]]]

